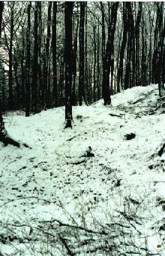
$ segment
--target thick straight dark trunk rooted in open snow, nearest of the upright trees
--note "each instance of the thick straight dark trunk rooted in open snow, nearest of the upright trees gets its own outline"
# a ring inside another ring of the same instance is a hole
[[[74,2],[65,2],[65,128],[71,127],[72,105],[72,13]]]

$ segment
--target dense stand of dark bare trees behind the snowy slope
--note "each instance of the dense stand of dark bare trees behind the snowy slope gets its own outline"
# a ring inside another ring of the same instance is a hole
[[[163,2],[1,2],[1,111],[28,117],[65,105],[71,126],[72,105],[101,98],[110,105],[114,93],[151,83],[163,96],[163,9]]]

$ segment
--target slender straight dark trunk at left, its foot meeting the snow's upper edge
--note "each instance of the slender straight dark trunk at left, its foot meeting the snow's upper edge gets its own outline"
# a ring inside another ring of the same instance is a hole
[[[26,117],[30,115],[30,28],[31,28],[31,2],[28,2],[28,26],[26,31]]]

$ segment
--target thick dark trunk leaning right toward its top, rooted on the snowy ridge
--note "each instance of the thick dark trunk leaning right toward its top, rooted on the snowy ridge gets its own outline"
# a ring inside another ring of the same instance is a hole
[[[111,9],[111,10],[110,10]],[[103,65],[103,84],[102,93],[104,98],[104,105],[110,105],[110,69],[111,69],[111,59],[113,52],[113,42],[115,35],[115,24],[117,20],[118,2],[113,2],[112,7],[109,7],[109,25],[108,25],[108,40],[107,47],[104,56]]]

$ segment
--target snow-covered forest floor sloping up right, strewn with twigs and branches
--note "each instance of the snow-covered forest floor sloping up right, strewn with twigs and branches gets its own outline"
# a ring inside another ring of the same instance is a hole
[[[5,114],[1,255],[165,255],[165,142],[157,85],[25,117]],[[158,106],[158,107],[157,107]]]

